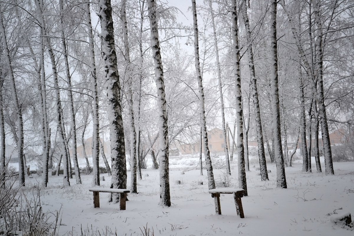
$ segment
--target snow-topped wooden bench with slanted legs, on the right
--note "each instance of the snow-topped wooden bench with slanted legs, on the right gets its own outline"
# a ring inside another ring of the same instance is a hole
[[[243,189],[235,189],[231,187],[224,187],[218,189],[210,189],[209,193],[211,193],[211,197],[216,198],[215,201],[215,211],[219,215],[221,215],[221,207],[220,207],[220,194],[232,194],[234,195],[235,205],[236,205],[236,213],[240,215],[240,218],[245,218],[241,197],[244,196],[245,190]]]

